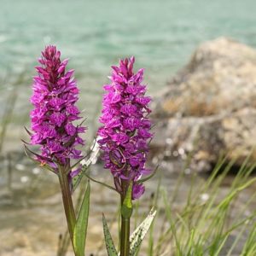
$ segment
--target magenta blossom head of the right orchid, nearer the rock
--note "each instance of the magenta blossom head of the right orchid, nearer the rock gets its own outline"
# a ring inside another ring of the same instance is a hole
[[[139,179],[150,171],[145,167],[151,122],[148,119],[150,97],[145,96],[143,69],[133,73],[134,57],[112,67],[111,84],[104,86],[103,109],[98,140],[105,168],[110,169],[116,189],[125,194],[124,183],[133,182],[132,197],[143,195]],[[127,189],[127,186],[125,187]]]

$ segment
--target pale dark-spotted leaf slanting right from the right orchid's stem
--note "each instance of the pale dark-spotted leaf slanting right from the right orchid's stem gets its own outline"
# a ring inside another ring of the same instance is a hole
[[[134,256],[137,252],[138,247],[140,247],[143,238],[146,236],[150,225],[152,224],[154,220],[154,216],[156,214],[156,211],[152,208],[151,211],[148,213],[148,216],[143,220],[143,223],[140,224],[137,229],[131,234],[130,236],[130,254],[129,256]]]

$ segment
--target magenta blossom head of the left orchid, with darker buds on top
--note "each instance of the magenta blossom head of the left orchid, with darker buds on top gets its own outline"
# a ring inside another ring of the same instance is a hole
[[[79,133],[85,127],[74,125],[81,119],[79,108],[79,89],[73,79],[73,70],[66,72],[67,60],[61,61],[61,52],[55,46],[47,46],[38,59],[38,76],[33,79],[31,102],[32,135],[31,144],[40,145],[41,154],[37,160],[47,164],[55,171],[57,165],[69,166],[71,159],[79,159],[78,145],[84,145]]]

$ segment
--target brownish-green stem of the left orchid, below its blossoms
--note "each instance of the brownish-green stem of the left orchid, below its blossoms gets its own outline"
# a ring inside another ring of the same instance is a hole
[[[68,183],[68,167],[61,167],[59,170],[59,180],[61,185],[62,201],[67,218],[67,227],[69,231],[69,236],[73,244],[73,230],[76,224],[76,215],[73,208],[73,201],[71,196],[71,191],[69,189]]]

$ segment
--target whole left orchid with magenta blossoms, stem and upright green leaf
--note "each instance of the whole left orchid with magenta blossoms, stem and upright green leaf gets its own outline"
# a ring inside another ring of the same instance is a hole
[[[28,131],[28,134],[31,137],[30,144],[40,146],[40,153],[33,153],[29,148],[26,148],[26,152],[33,154],[41,166],[58,175],[73,250],[75,255],[83,256],[90,184],[88,183],[78,218],[72,199],[72,182],[79,174],[81,165],[75,171],[72,169],[83,159],[78,146],[84,145],[80,134],[86,130],[82,124],[74,125],[75,121],[81,119],[79,108],[76,107],[79,89],[73,79],[74,71],[66,71],[67,60],[61,61],[61,52],[55,46],[47,46],[38,61],[38,75],[34,77],[32,85],[32,131]],[[72,160],[76,160],[73,166]],[[75,232],[77,222],[80,225]]]

